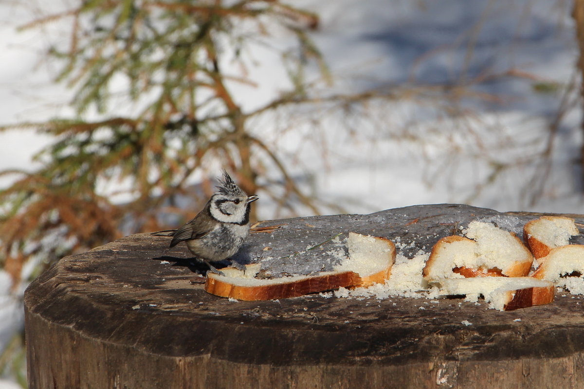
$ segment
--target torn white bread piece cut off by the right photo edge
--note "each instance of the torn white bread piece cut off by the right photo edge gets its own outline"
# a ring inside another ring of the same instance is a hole
[[[573,295],[584,295],[584,246],[568,244],[552,248],[541,258],[541,265],[533,278],[553,282]]]

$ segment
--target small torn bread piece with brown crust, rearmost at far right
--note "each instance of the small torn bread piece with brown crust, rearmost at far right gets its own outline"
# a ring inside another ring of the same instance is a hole
[[[570,237],[579,233],[574,219],[565,216],[541,216],[526,223],[523,227],[523,240],[534,257],[539,259],[548,255],[552,248],[569,244]]]

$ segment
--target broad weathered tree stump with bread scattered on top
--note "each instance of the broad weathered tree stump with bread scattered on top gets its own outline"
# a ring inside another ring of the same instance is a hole
[[[283,257],[349,231],[388,237],[411,256],[473,219],[509,220],[516,228],[538,216],[419,205],[271,220],[260,227],[280,226],[251,234],[239,260]],[[128,236],[62,258],[31,283],[25,292],[31,389],[576,388],[584,382],[579,296],[559,292],[552,304],[508,312],[460,299],[317,294],[235,302],[204,292],[189,251],[168,243]]]

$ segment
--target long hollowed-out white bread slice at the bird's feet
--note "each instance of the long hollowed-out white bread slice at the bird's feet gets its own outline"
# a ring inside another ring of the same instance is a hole
[[[238,300],[272,300],[297,297],[350,286],[369,286],[384,282],[395,261],[395,245],[383,237],[349,233],[349,257],[332,272],[258,279],[259,264],[248,265],[245,272],[225,268],[224,275],[208,274],[205,290]]]

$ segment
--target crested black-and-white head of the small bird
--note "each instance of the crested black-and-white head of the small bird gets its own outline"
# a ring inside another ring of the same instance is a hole
[[[223,171],[217,192],[211,197],[211,216],[222,223],[245,225],[249,222],[248,203],[248,195]]]

